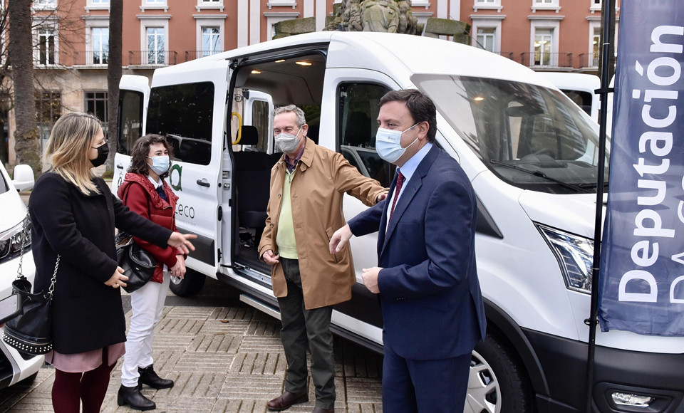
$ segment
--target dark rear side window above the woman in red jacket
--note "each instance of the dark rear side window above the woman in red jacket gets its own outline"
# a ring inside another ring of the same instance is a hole
[[[152,88],[147,132],[164,135],[175,160],[207,165],[212,160],[214,83]]]

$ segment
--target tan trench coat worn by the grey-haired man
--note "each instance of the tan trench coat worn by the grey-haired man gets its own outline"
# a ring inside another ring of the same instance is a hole
[[[266,209],[266,228],[259,242],[259,256],[266,250],[278,253],[276,233],[285,182],[286,164],[281,159],[271,169],[271,197]],[[356,283],[351,249],[345,246],[332,255],[330,237],[346,224],[342,197],[348,193],[368,206],[387,190],[378,181],[364,177],[344,157],[306,138],[306,147],[291,182],[292,221],[299,255],[301,286],[307,309],[326,307],[351,299]],[[280,263],[271,268],[273,292],[287,296]]]

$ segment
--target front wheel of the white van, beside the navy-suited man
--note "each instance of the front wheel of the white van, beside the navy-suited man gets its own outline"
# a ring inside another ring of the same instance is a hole
[[[509,347],[487,333],[472,352],[464,413],[534,412],[527,374]]]

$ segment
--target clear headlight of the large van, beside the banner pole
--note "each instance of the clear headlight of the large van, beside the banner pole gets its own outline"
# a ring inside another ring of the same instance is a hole
[[[591,268],[594,264],[594,241],[560,229],[536,224],[546,244],[558,260],[565,285],[573,291],[591,294]]]

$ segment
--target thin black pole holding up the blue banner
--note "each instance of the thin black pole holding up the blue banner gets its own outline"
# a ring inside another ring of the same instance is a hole
[[[607,3],[607,4],[606,4]],[[603,223],[603,174],[606,171],[606,120],[608,113],[608,93],[613,90],[610,85],[610,58],[611,38],[610,8],[615,8],[615,0],[603,0],[603,30],[601,39],[601,89],[596,90],[601,95],[601,115],[599,116],[598,129],[598,177],[596,184],[596,221],[594,221],[594,264],[591,271],[591,309],[589,319],[589,347],[586,355],[586,413],[592,413],[594,402],[594,355],[596,352],[596,324],[598,322],[598,276],[599,263],[601,261],[601,224]]]

